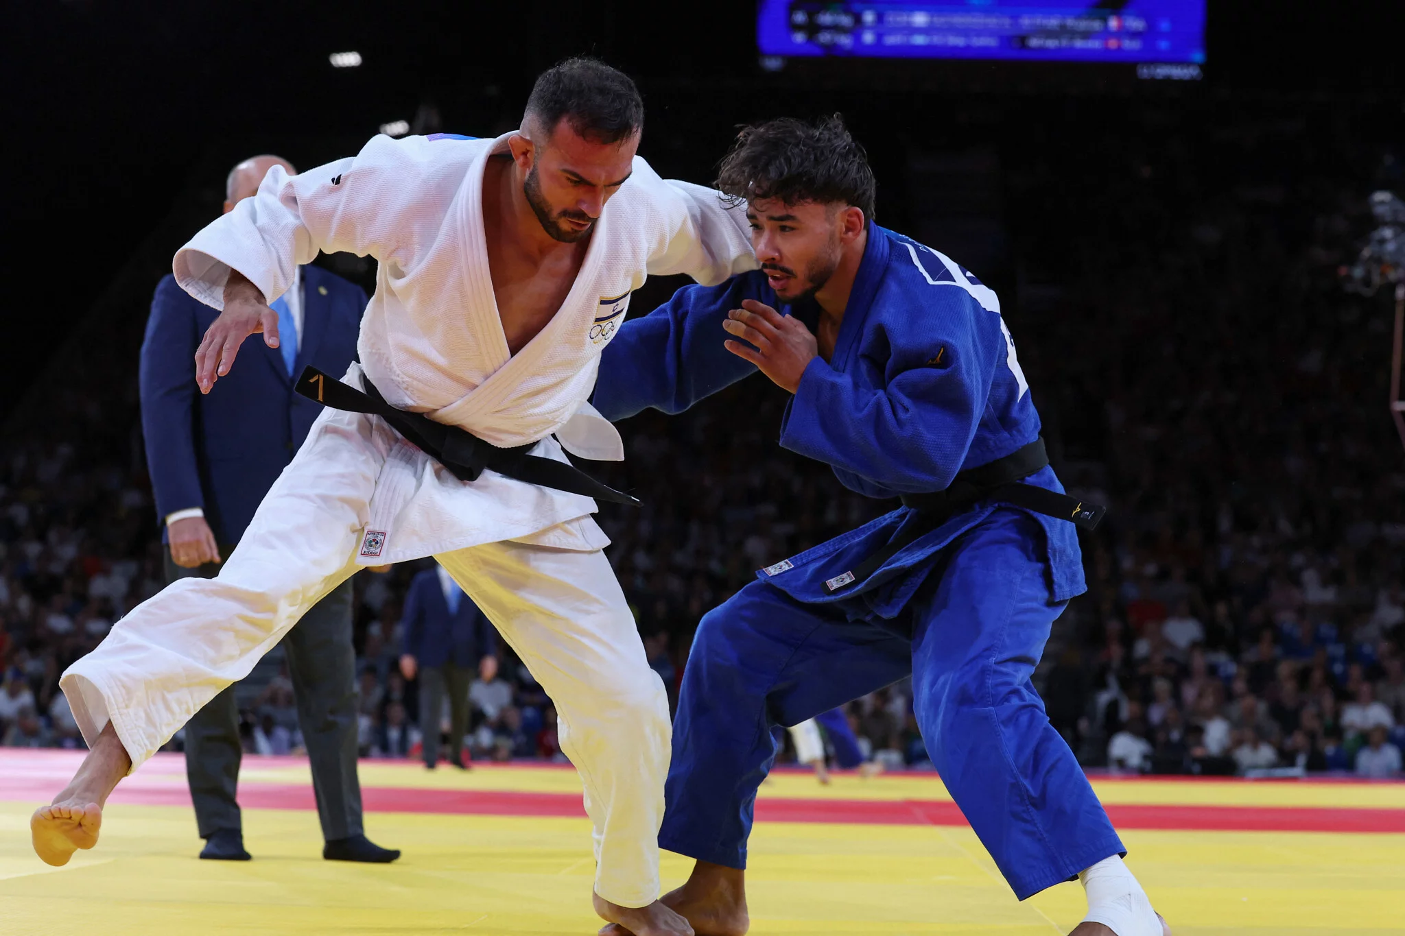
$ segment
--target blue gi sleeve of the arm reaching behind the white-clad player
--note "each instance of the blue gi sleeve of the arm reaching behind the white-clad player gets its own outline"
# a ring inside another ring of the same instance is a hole
[[[776,305],[760,271],[721,286],[684,286],[646,316],[631,319],[600,355],[590,404],[607,420],[624,420],[653,407],[681,413],[705,396],[756,370],[724,342],[726,313],[743,299]]]

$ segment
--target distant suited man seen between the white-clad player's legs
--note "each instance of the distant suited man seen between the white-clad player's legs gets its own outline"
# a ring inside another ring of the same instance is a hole
[[[468,734],[468,688],[476,672],[490,682],[497,675],[493,626],[458,582],[434,563],[410,582],[400,619],[400,672],[420,683],[420,735],[424,766],[438,765],[440,716],[448,693],[448,762],[461,770]]]

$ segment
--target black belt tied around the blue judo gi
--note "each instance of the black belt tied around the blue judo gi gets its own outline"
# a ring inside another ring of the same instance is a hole
[[[898,550],[937,529],[960,511],[976,501],[1003,501],[1027,511],[1057,516],[1083,529],[1094,529],[1107,512],[1106,507],[1083,504],[1075,497],[1059,494],[1034,484],[1020,484],[1021,477],[1034,474],[1050,463],[1044,450],[1044,439],[1034,439],[1021,449],[996,459],[981,467],[961,472],[943,491],[930,494],[903,494],[902,502],[917,512],[887,546],[868,556],[851,573],[836,575],[825,582],[830,594],[864,581],[882,564],[898,554]]]

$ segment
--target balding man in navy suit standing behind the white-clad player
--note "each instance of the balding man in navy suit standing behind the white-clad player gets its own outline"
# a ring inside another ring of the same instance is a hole
[[[294,173],[277,156],[236,166],[225,185],[225,212],[253,195],[274,164]],[[167,543],[167,582],[218,574],[322,411],[294,393],[295,375],[305,365],[344,372],[355,356],[365,305],[360,286],[318,267],[301,267],[292,289],[273,303],[281,347],[247,341],[242,355],[260,361],[236,368],[202,396],[195,348],[219,313],[190,297],[170,275],[156,286],[142,344],[140,394],[146,463]],[[284,650],[312,761],[323,857],[393,862],[400,853],[374,845],[361,828],[351,580],[298,622]],[[201,857],[250,857],[235,798],[240,755],[239,706],[229,686],[185,726],[185,772],[205,839]]]

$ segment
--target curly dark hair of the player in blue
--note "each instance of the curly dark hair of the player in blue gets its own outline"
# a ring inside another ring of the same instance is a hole
[[[864,147],[835,114],[813,123],[783,116],[743,126],[718,166],[717,187],[735,202],[843,202],[871,219],[878,182]]]

